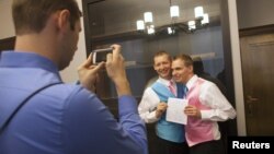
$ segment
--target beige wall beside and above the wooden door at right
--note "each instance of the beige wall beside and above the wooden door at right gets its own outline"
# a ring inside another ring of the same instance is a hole
[[[247,135],[239,29],[274,24],[273,0],[229,0],[238,134]],[[238,22],[238,25],[237,25]]]

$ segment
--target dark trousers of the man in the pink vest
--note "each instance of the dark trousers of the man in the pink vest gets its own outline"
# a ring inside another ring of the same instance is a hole
[[[208,141],[190,147],[190,154],[225,154],[221,140]]]

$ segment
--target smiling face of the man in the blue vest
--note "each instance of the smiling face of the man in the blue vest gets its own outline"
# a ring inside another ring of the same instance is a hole
[[[171,59],[168,54],[156,56],[153,68],[160,78],[171,79]]]

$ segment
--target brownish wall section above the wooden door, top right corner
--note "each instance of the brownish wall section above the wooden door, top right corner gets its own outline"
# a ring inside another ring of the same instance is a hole
[[[274,24],[273,0],[237,0],[239,28]]]

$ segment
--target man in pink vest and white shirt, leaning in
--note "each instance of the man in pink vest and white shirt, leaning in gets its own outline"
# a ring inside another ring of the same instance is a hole
[[[172,75],[189,90],[189,106],[184,112],[187,116],[185,138],[190,154],[225,153],[217,121],[233,119],[233,107],[213,82],[193,73],[193,60],[190,56],[182,54],[173,59]]]

